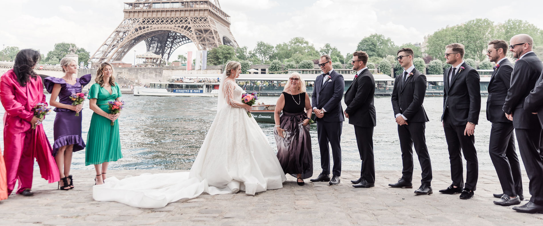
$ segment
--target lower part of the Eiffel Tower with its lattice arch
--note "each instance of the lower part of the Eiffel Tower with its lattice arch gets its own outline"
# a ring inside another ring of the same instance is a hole
[[[135,0],[124,4],[124,20],[92,55],[93,67],[120,61],[144,41],[147,51],[169,59],[175,49],[194,42],[198,50],[221,44],[238,47],[230,31],[230,16],[218,0]]]

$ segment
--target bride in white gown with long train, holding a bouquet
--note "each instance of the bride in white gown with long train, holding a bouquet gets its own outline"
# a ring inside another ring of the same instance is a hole
[[[250,106],[241,102],[235,79],[241,64],[226,64],[220,80],[217,116],[190,172],[144,173],[119,180],[110,177],[93,186],[96,201],[116,201],[140,208],[160,208],[180,199],[245,191],[247,195],[282,188],[285,173]]]

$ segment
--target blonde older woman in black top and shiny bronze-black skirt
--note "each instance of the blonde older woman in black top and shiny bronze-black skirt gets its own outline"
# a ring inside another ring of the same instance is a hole
[[[283,172],[296,177],[298,185],[304,185],[304,179],[313,176],[309,134],[311,114],[311,102],[306,93],[305,81],[300,74],[293,73],[275,105],[274,134],[277,159]]]

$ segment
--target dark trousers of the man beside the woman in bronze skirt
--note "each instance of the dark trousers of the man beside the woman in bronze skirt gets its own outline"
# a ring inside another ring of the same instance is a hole
[[[343,129],[343,121],[326,122],[324,120],[317,121],[317,138],[320,148],[320,166],[323,168],[324,175],[330,174],[330,149],[328,143],[332,146],[332,158],[334,165],[332,168],[333,176],[341,176],[341,132]]]

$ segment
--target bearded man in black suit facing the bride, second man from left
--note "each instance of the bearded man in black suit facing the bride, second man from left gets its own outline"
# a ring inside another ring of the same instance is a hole
[[[375,186],[375,164],[373,152],[373,130],[376,125],[374,106],[375,81],[368,67],[368,54],[356,51],[352,54],[352,69],[356,70],[355,79],[345,92],[345,117],[355,126],[358,152],[362,160],[360,178],[351,180],[355,188]]]

